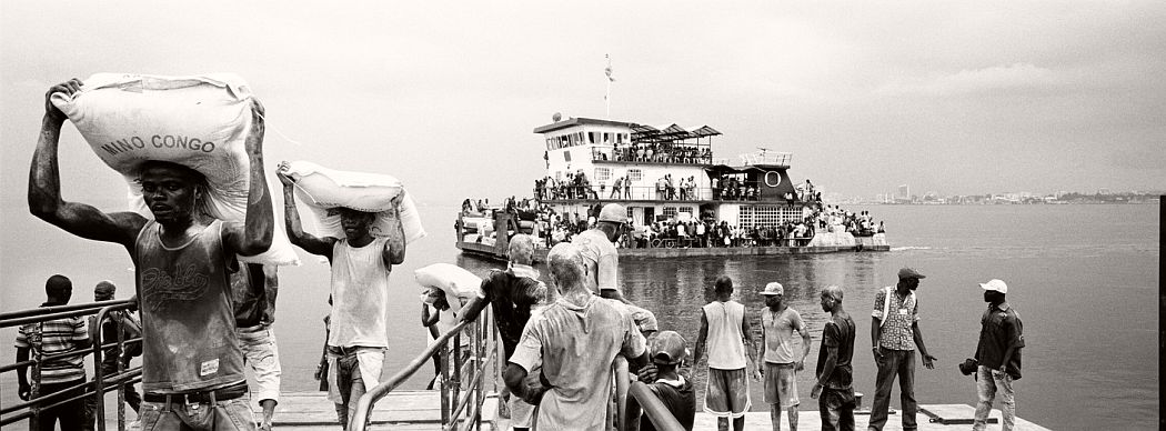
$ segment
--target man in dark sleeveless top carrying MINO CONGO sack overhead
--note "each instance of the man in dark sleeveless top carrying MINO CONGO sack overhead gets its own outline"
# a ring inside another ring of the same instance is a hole
[[[119,243],[129,252],[142,318],[142,429],[253,430],[229,276],[237,268],[236,255],[257,255],[272,245],[262,105],[252,100],[244,222],[208,217],[201,211],[208,192],[205,177],[160,161],[146,161],[139,168],[142,197],[154,216],[149,220],[135,212],[106,213],[61,198],[57,147],[65,115],[49,97],[76,93],[80,85],[72,79],[45,93],[29,175],[29,210],[75,235]]]

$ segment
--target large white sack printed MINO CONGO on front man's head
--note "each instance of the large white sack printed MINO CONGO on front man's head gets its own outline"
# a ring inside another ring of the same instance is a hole
[[[178,163],[202,172],[209,185],[203,211],[213,218],[246,218],[251,163],[251,89],[231,73],[164,77],[96,73],[72,96],[50,97],[106,165],[125,177],[131,211],[153,218],[138,186],[142,162]],[[287,234],[241,261],[296,264]]]

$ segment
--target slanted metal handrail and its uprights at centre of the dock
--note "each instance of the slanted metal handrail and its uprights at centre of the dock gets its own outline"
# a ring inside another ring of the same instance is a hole
[[[441,354],[441,368],[442,368],[442,429],[452,430],[456,429],[461,421],[458,421],[458,415],[463,411],[468,412],[470,421],[466,421],[464,425],[466,429],[472,425],[480,428],[482,422],[482,403],[485,401],[483,394],[483,382],[485,377],[485,368],[487,363],[496,363],[497,366],[497,326],[492,322],[492,310],[486,309],[478,318],[471,322],[461,322],[445,333],[437,337],[434,342],[415,356],[408,365],[401,370],[393,374],[392,377],[386,380],[384,383],[377,384],[372,389],[365,393],[357,401],[357,411],[349,418],[347,430],[349,431],[363,431],[368,422],[368,416],[372,412],[373,405],[384,398],[388,393],[396,389],[401,383],[413,376],[421,367],[429,362],[430,358],[435,354]],[[471,326],[471,324],[473,326]],[[470,349],[471,356],[477,363],[475,363],[473,373],[468,387],[464,389],[465,396],[459,396],[462,391],[461,388],[461,374],[464,362],[470,360],[470,358],[463,358],[459,352],[461,338],[463,332],[466,330],[472,330],[470,338]],[[483,337],[489,330],[489,338]],[[452,348],[449,344],[452,340]],[[490,341],[489,344],[486,341]],[[489,353],[487,353],[489,352]],[[450,354],[452,353],[452,355]],[[454,359],[454,377],[449,376],[449,356]],[[452,396],[449,396],[449,395]],[[454,405],[450,405],[450,401]],[[473,401],[475,404],[468,409],[470,402]]]

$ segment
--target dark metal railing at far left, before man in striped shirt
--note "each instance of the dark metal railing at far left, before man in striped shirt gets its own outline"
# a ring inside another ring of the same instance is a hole
[[[127,345],[141,342],[141,337],[128,340],[125,339],[122,319],[117,319],[118,339],[115,341],[108,344],[104,342],[105,340],[101,339],[101,331],[99,328],[101,327],[101,324],[112,316],[112,313],[120,312],[121,310],[128,310],[134,305],[135,302],[132,299],[122,299],[75,305],[44,306],[0,313],[0,327],[40,324],[49,320],[78,316],[97,316],[93,326],[90,328],[90,334],[93,341],[90,348],[45,355],[38,347],[34,346],[30,348],[31,356],[29,360],[0,366],[0,374],[14,370],[22,372],[26,368],[31,368],[31,375],[36,379],[36,376],[40,375],[41,366],[45,362],[92,354],[94,369],[94,377],[92,380],[49,394],[41,394],[41,384],[38,381],[34,380],[30,382],[31,394],[29,395],[29,400],[13,405],[0,407],[0,428],[23,419],[29,419],[30,429],[36,429],[38,426],[36,422],[40,411],[52,409],[77,400],[93,397],[97,393],[97,388],[100,388],[100,394],[103,396],[96,397],[97,430],[105,430],[104,395],[111,390],[118,391],[118,429],[125,430],[125,387],[126,384],[133,384],[134,382],[141,380],[141,367],[125,368],[125,365],[118,360],[118,372],[113,375],[103,375],[101,360],[106,349],[113,348],[115,352],[125,352]]]

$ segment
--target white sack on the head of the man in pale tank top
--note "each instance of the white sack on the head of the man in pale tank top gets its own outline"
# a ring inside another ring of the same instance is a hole
[[[371,228],[374,236],[388,234],[393,220],[392,200],[402,195],[399,213],[405,231],[405,242],[426,236],[417,205],[401,186],[401,181],[388,175],[332,170],[311,162],[292,162],[288,177],[295,181],[296,199],[304,203],[316,218],[317,235],[344,238],[340,216],[335,209],[346,207],[377,213]]]

